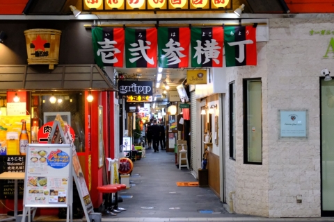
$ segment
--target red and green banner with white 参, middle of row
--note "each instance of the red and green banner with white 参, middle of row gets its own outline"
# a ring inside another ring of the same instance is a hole
[[[188,67],[189,28],[158,28],[158,60],[161,68]]]

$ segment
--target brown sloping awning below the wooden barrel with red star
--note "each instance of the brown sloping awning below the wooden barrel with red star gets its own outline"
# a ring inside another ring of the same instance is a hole
[[[105,71],[92,65],[0,65],[0,90],[118,91]]]

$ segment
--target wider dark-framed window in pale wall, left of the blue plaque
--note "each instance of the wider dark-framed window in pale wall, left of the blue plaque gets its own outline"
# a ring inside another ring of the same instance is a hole
[[[262,164],[261,79],[244,79],[244,163]]]

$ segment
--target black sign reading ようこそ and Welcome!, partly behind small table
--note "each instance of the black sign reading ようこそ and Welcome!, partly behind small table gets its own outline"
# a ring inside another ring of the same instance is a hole
[[[24,173],[26,168],[26,155],[1,155],[0,173],[19,172]],[[24,180],[17,181],[19,186],[19,198],[23,198]],[[0,181],[0,198],[14,199],[14,180]]]

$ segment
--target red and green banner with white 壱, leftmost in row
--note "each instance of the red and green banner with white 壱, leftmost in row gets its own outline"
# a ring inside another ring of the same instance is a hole
[[[123,67],[124,29],[92,28],[95,63],[99,67]]]

